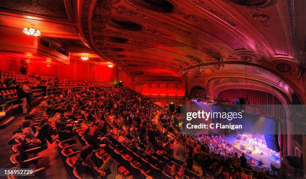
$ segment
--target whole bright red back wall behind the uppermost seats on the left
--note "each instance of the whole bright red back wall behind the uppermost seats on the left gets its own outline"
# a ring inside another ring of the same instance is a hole
[[[20,59],[0,54],[0,70],[18,72],[19,68]],[[31,62],[27,64],[27,72],[58,75],[59,79],[67,79],[70,81],[93,81],[93,79],[96,82],[115,81],[115,67],[110,68],[107,64],[101,63],[94,64],[76,57],[70,58],[69,65],[54,65],[51,63],[51,66],[47,67],[45,63]],[[129,84],[130,82],[129,77],[123,73],[119,80],[126,81],[125,84]]]

